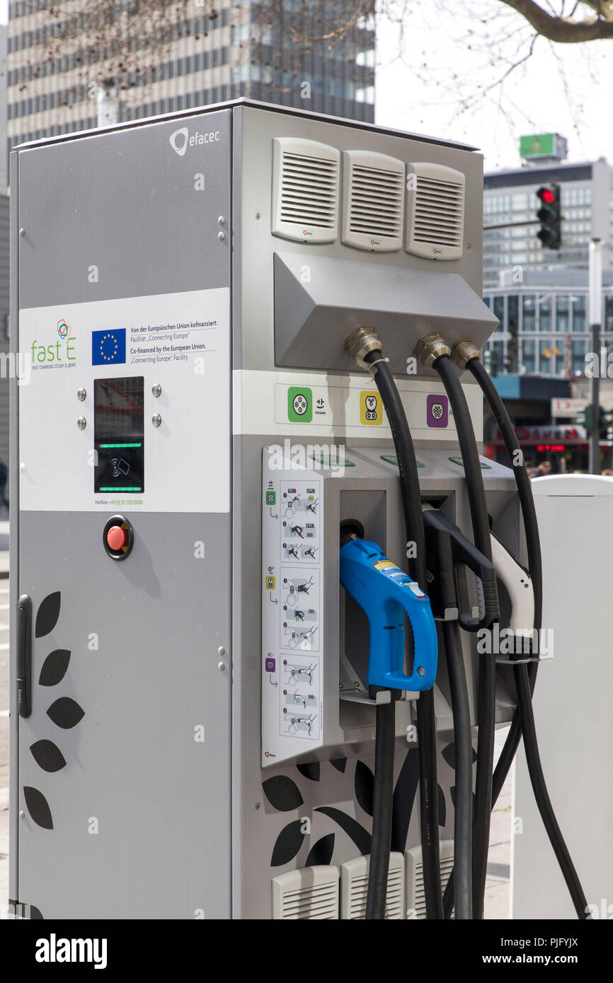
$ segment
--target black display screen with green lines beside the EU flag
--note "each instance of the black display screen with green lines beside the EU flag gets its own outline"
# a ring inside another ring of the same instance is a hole
[[[94,492],[145,491],[145,379],[93,380]]]

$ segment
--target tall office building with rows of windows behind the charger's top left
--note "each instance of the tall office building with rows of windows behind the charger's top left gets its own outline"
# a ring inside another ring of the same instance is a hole
[[[10,6],[9,149],[97,125],[98,82],[105,75],[105,66],[116,62],[104,62],[99,47],[92,50],[85,16],[80,22],[83,34],[77,25],[71,37],[51,51],[53,26],[61,22],[63,7],[60,3],[51,8],[46,0],[18,0]],[[283,0],[273,19],[266,3],[249,0],[226,0],[213,12],[198,2],[185,4],[185,15],[164,48],[146,46],[139,71],[134,67],[121,78],[113,100],[117,120],[246,95],[374,122],[374,21],[357,21],[330,47],[292,45],[292,29],[315,34],[322,23],[334,24],[335,0],[317,5],[323,19],[319,24],[311,8],[306,0]],[[50,14],[50,9],[60,16]]]

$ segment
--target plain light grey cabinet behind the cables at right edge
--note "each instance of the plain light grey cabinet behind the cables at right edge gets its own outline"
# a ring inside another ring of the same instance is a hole
[[[545,781],[593,919],[613,916],[613,481],[556,475],[532,483],[543,554],[543,628],[534,719]],[[550,653],[551,654],[551,653]],[[538,814],[523,748],[514,794],[513,917],[575,919]]]

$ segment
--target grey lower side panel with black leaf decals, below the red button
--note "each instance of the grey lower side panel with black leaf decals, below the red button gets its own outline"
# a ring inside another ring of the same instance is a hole
[[[45,918],[194,918],[199,909],[226,918],[229,519],[128,518],[135,546],[123,562],[102,549],[101,517],[36,512],[23,523],[21,590],[34,617],[56,591],[61,604],[55,627],[33,641],[32,714],[20,723],[19,900]],[[195,558],[196,540],[209,559]],[[70,651],[67,671],[40,685],[58,649]],[[67,698],[83,717],[64,728],[51,719],[58,707],[48,711]],[[65,767],[36,763],[40,740]],[[44,795],[52,829],[32,820],[24,786]]]

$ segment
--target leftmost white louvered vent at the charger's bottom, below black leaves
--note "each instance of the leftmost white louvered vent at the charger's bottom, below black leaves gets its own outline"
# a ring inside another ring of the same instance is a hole
[[[273,918],[330,921],[338,918],[338,868],[303,867],[273,878]]]

